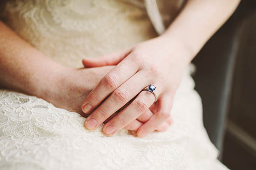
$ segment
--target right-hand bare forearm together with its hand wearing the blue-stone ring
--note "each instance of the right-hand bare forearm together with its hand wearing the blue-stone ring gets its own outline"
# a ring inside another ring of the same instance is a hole
[[[91,113],[85,126],[94,130],[137,94],[128,107],[104,125],[103,132],[112,135],[130,128],[137,129],[138,137],[144,137],[161,126],[169,119],[183,70],[238,3],[239,0],[188,0],[161,36],[114,54],[84,59],[86,67],[116,65],[83,101],[83,112]],[[155,103],[153,94],[141,92],[149,84],[157,87],[159,97]],[[145,117],[146,122],[141,123]]]

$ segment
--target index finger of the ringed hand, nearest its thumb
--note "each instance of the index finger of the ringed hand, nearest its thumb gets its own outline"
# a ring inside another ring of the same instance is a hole
[[[99,84],[88,94],[82,102],[82,111],[91,113],[109,94],[133,76],[137,70],[138,67],[132,61],[123,60],[104,76]]]

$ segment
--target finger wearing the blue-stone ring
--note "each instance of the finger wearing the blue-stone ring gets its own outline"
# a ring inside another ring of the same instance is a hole
[[[112,135],[127,126],[142,113],[144,113],[155,101],[155,96],[148,91],[142,91],[136,99],[103,127],[103,132]]]

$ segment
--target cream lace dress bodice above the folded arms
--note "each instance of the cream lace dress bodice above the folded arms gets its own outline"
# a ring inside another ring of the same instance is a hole
[[[8,0],[3,18],[47,56],[72,67],[157,36],[144,0]]]

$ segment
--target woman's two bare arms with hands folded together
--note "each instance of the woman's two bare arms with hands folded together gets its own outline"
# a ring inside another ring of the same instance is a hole
[[[52,61],[0,22],[0,84],[82,116],[91,113],[85,122],[91,130],[139,94],[104,125],[103,132],[112,135],[127,128],[144,137],[155,130],[165,131],[172,122],[169,115],[183,70],[239,1],[188,0],[161,36],[96,59],[84,59],[85,69]],[[155,103],[153,94],[140,93],[149,84],[156,86]],[[91,108],[87,110],[84,106],[88,103]]]

